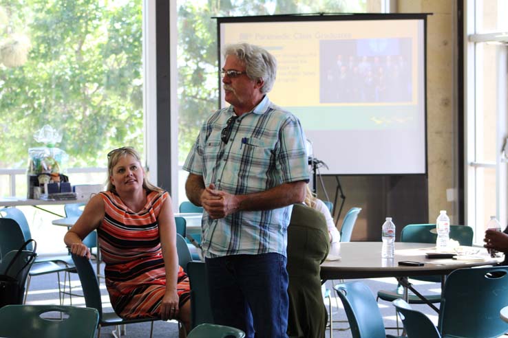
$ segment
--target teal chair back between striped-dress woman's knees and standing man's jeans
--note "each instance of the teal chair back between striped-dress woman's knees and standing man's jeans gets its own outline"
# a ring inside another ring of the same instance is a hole
[[[187,265],[191,284],[191,327],[203,323],[213,324],[206,269],[204,262],[193,261]]]

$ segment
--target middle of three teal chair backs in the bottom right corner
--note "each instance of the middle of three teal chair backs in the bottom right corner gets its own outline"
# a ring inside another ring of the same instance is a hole
[[[410,304],[398,299],[392,302],[401,317],[405,332],[411,338],[441,338],[434,323],[425,314],[413,310]]]

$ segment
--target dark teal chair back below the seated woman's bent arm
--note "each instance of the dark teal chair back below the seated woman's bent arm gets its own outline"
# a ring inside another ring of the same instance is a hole
[[[95,308],[99,313],[99,321],[103,320],[103,302],[100,299],[100,289],[92,262],[83,256],[72,254],[72,260],[78,271],[78,277],[85,296],[87,308]]]

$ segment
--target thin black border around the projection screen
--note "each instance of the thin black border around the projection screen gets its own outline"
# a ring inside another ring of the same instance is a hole
[[[422,172],[376,172],[376,173],[324,173],[334,176],[357,176],[357,175],[423,175],[427,178],[428,175],[428,161],[427,161],[427,15],[432,13],[391,13],[391,14],[376,14],[376,13],[359,13],[359,14],[284,14],[284,15],[263,15],[263,16],[225,16],[215,17],[217,19],[218,30],[218,62],[222,60],[221,54],[221,25],[223,23],[277,23],[277,22],[306,22],[306,21],[366,21],[366,20],[421,20],[423,22],[423,171]],[[242,42],[242,41],[238,41]],[[218,88],[221,88],[220,68],[218,67]],[[221,108],[222,104],[222,91],[219,90],[218,107]],[[277,102],[275,102],[277,104]],[[420,157],[419,157],[420,158]]]

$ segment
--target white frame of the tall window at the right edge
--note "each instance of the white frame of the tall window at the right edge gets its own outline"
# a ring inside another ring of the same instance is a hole
[[[507,47],[508,34],[502,32],[478,32],[477,18],[481,13],[476,7],[476,0],[464,0],[464,130],[465,130],[465,224],[475,230],[474,243],[483,243],[483,232],[487,218],[483,214],[480,184],[483,171],[494,168],[496,170],[496,217],[501,224],[507,223],[508,210],[508,170],[507,162],[500,156],[500,150],[508,136],[508,109],[505,94],[508,89],[507,76]],[[478,44],[496,43],[496,161],[478,160],[478,147],[481,139],[477,132],[483,124],[480,117],[482,107],[481,91],[483,78],[478,65],[483,63]]]

